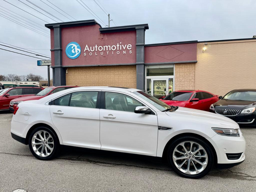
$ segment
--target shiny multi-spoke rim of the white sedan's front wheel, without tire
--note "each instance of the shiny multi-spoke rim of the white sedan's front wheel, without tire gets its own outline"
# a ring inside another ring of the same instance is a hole
[[[173,162],[181,172],[196,175],[206,168],[208,156],[200,144],[194,141],[185,141],[175,147]]]

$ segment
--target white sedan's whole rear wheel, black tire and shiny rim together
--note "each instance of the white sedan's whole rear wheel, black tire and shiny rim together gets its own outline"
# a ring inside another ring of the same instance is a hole
[[[37,127],[29,136],[29,149],[40,160],[50,160],[57,156],[59,142],[56,134],[48,127]]]

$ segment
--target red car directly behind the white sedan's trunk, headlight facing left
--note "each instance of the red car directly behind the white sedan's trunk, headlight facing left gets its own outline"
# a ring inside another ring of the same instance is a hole
[[[39,92],[37,94],[27,96],[27,97],[13,99],[11,102],[9,102],[9,110],[14,112],[14,110],[16,109],[16,106],[22,101],[38,100],[43,97],[46,97],[47,95],[57,93],[59,91],[70,89],[73,87],[78,87],[78,86],[51,86],[51,87],[47,87],[46,89],[42,90],[41,92]]]

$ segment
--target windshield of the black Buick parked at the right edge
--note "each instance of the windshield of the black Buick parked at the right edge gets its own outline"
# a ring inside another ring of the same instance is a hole
[[[223,99],[228,100],[242,100],[242,101],[256,101],[256,91],[230,91]]]

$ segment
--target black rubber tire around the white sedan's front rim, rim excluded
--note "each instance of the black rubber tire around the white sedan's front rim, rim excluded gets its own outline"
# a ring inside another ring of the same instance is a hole
[[[173,161],[173,152],[175,147],[184,142],[184,141],[193,141],[196,142],[198,144],[200,144],[202,147],[204,147],[207,156],[208,156],[208,162],[207,162],[207,166],[204,170],[202,170],[202,172],[195,174],[195,175],[189,175],[189,174],[185,174],[182,171],[180,171],[176,165],[174,164]],[[191,178],[191,179],[198,179],[201,178],[203,176],[205,176],[207,173],[209,173],[209,171],[211,170],[212,166],[214,165],[214,154],[211,150],[211,147],[209,146],[208,143],[206,143],[204,140],[199,139],[195,136],[183,136],[180,138],[175,139],[168,147],[168,151],[167,151],[167,160],[169,165],[172,167],[172,169],[180,176],[185,177],[185,178]]]

